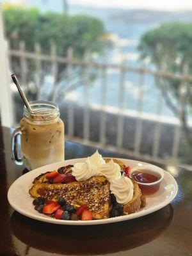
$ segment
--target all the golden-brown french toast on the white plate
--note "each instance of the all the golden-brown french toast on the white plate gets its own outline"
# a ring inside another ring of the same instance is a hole
[[[108,163],[111,159],[104,159]],[[120,169],[124,170],[125,164],[118,159],[113,161],[119,164]],[[47,200],[57,201],[65,198],[68,204],[74,207],[87,205],[92,211],[93,219],[109,218],[111,211],[110,184],[104,176],[93,176],[88,180],[69,182],[67,184],[49,184],[49,179],[43,173],[33,180],[33,186],[29,189],[29,194],[35,198],[42,196]],[[63,166],[58,169],[58,173],[72,173],[72,165]],[[132,180],[132,179],[131,179]],[[132,180],[134,194],[130,202],[124,205],[124,214],[131,214],[145,207],[145,196],[142,195],[138,183]]]

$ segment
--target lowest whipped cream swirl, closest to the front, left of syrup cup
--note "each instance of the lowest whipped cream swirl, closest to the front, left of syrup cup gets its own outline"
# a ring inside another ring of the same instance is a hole
[[[124,173],[120,178],[111,180],[111,193],[115,195],[116,202],[119,204],[127,204],[133,197],[134,187],[131,179],[125,177]]]

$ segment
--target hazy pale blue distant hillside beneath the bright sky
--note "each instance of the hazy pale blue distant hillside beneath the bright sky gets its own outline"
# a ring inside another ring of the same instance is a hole
[[[57,4],[52,0],[26,0],[27,6],[37,7],[42,12],[63,12],[62,0],[57,0]],[[110,6],[110,3],[109,3]],[[94,16],[107,22],[129,22],[129,23],[162,23],[173,20],[181,22],[192,22],[192,11],[185,12],[160,12],[153,10],[124,10],[114,8],[95,8],[77,4],[68,4],[69,14],[80,14]]]

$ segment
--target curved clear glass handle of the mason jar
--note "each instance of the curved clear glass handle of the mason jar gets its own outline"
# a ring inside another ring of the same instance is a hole
[[[13,159],[13,162],[18,165],[23,164],[22,159],[19,158],[17,154],[17,138],[21,133],[22,132],[20,127],[15,129],[15,131],[13,131],[12,133],[12,159]]]

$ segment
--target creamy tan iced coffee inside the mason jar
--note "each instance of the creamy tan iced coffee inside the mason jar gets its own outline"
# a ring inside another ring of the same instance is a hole
[[[64,124],[57,120],[34,124],[20,121],[23,162],[30,169],[64,160]]]

